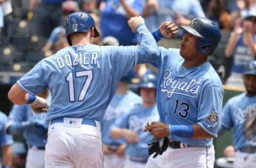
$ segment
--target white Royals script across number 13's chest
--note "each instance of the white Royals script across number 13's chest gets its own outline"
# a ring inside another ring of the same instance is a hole
[[[201,87],[201,79],[192,79],[190,82],[182,82],[177,79],[173,80],[171,74],[172,72],[170,70],[166,70],[164,72],[163,83],[161,84],[161,91],[162,93],[167,93],[168,98],[171,98],[173,94],[193,98],[198,96],[198,90]]]

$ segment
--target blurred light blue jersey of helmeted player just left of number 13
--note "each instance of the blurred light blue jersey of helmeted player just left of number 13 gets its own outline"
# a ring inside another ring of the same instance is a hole
[[[159,121],[156,105],[145,108],[142,104],[135,105],[129,112],[116,121],[113,128],[127,128],[138,132],[139,135],[139,142],[137,144],[127,144],[125,149],[126,156],[145,159],[149,157],[147,142],[152,139],[152,136],[148,131],[144,132],[144,129],[148,122],[153,121]]]

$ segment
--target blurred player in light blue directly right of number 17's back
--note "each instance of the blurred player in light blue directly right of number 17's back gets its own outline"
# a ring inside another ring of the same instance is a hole
[[[111,99],[101,123],[104,152],[103,167],[105,168],[123,168],[126,143],[124,139],[115,140],[111,138],[110,128],[116,120],[126,114],[131,107],[135,104],[142,103],[140,96],[129,89],[129,83],[131,83],[132,78],[130,74],[131,73],[127,73],[120,79],[116,93]]]

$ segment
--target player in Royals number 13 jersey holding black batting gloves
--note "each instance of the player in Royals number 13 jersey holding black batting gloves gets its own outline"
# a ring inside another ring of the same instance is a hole
[[[165,24],[153,32],[157,40],[167,37]],[[159,48],[158,62],[153,63],[159,73],[157,109],[161,122],[146,125],[145,131],[154,136],[148,143],[153,155],[146,167],[214,165],[212,141],[218,133],[223,88],[207,57],[217,47],[221,32],[206,18],[195,18],[181,28],[187,33],[180,49]]]

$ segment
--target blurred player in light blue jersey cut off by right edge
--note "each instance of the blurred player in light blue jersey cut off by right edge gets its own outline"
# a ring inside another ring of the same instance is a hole
[[[250,61],[244,70],[246,91],[230,98],[223,107],[218,135],[234,128],[234,167],[256,166],[256,61]]]

